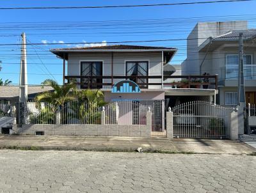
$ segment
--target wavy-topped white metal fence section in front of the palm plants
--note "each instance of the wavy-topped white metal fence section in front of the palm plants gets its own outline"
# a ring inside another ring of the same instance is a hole
[[[18,113],[24,114],[26,124],[100,124],[100,109],[97,104],[78,101],[60,107],[46,102],[28,102],[26,107],[18,108]]]

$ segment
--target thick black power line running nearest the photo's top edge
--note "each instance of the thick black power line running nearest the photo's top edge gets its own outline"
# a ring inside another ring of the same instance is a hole
[[[136,8],[136,7],[152,7],[152,6],[177,6],[189,4],[209,4],[209,3],[236,3],[242,1],[254,0],[220,0],[220,1],[195,1],[189,3],[161,3],[161,4],[129,4],[129,5],[111,5],[111,6],[52,6],[52,7],[16,7],[16,8],[0,8],[0,10],[53,10],[53,9],[94,9],[94,8]]]

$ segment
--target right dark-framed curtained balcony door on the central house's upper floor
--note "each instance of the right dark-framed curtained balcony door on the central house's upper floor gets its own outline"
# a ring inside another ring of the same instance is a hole
[[[127,76],[147,76],[148,75],[148,61],[127,61],[126,62]],[[136,82],[140,88],[147,88],[148,79],[132,78],[130,81]]]

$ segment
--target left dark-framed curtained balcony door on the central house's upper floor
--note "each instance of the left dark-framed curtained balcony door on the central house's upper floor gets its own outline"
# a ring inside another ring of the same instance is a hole
[[[93,75],[102,75],[102,61],[81,61],[81,76]],[[102,88],[99,83],[102,79],[81,79],[81,88]]]

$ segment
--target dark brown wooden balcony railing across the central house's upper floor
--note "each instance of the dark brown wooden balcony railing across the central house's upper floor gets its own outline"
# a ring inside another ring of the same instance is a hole
[[[164,88],[204,88],[204,89],[218,89],[218,76],[217,75],[173,75],[163,77],[161,75],[149,76],[125,76],[125,75],[97,75],[97,76],[79,76],[69,75],[65,79],[76,81],[76,84],[81,85],[81,88],[99,89],[111,88],[115,82],[121,80],[132,80],[140,86],[140,88],[150,88],[148,86],[159,86],[161,88],[164,79]],[[158,79],[158,80],[157,80]],[[172,79],[172,82],[168,82]],[[177,81],[175,81],[177,79]],[[82,80],[82,81],[81,81]],[[142,81],[141,81],[142,80]],[[173,81],[174,80],[174,81]]]

